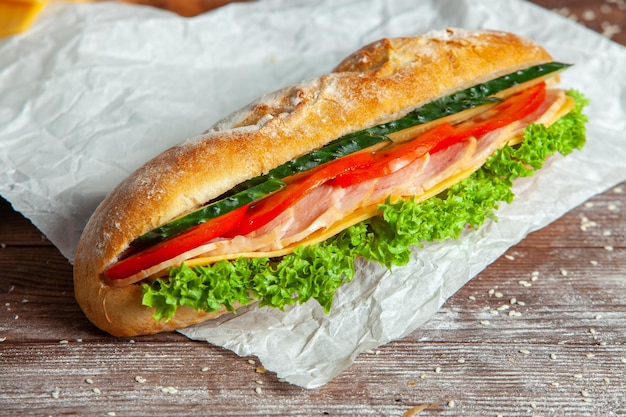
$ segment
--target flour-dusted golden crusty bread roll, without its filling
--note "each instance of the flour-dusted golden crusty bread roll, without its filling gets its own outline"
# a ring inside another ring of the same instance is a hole
[[[157,321],[142,306],[139,285],[109,286],[103,271],[133,239],[247,179],[436,98],[551,60],[536,43],[509,33],[447,29],[374,42],[330,74],[260,98],[148,161],[106,197],[76,252],[78,303],[96,326],[120,336],[223,314],[181,307],[171,320]]]

